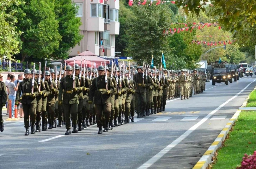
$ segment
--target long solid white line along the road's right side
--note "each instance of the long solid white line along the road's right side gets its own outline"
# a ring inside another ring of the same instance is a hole
[[[256,79],[255,79],[256,80]],[[252,81],[251,83],[255,82]],[[177,144],[179,144],[180,142],[182,142],[182,140],[184,140],[187,136],[189,136],[189,134],[191,134],[194,130],[196,130],[201,124],[203,124],[206,120],[208,120],[214,113],[216,113],[219,109],[221,109],[223,106],[225,106],[226,104],[228,104],[228,102],[230,102],[231,100],[233,100],[234,98],[236,98],[240,93],[242,93],[246,88],[248,88],[248,86],[250,86],[249,83],[245,88],[243,88],[239,93],[237,93],[236,95],[234,95],[232,98],[228,99],[226,102],[224,102],[223,104],[221,104],[218,108],[216,108],[215,110],[213,110],[211,113],[209,113],[205,118],[203,118],[202,120],[200,120],[198,123],[196,123],[194,126],[192,126],[190,129],[188,129],[185,133],[183,133],[181,136],[179,136],[176,140],[174,140],[171,144],[167,145],[163,150],[161,150],[160,152],[158,152],[158,154],[156,154],[155,156],[153,156],[152,158],[150,158],[147,162],[145,162],[144,164],[142,164],[138,169],[147,169],[149,167],[151,167],[151,165],[153,165],[155,162],[157,162],[161,157],[163,157],[167,152],[169,152],[172,148],[174,148]]]

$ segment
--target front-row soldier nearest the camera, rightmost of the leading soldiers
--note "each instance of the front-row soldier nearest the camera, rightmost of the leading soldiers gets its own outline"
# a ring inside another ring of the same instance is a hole
[[[105,123],[104,132],[109,130],[111,95],[114,94],[115,89],[110,77],[105,77],[105,68],[103,66],[98,67],[98,74],[99,76],[92,80],[92,86],[89,93],[89,104],[92,104],[94,98],[97,126],[99,127],[98,134],[102,134],[103,123]],[[105,115],[105,121],[102,121],[103,113]]]

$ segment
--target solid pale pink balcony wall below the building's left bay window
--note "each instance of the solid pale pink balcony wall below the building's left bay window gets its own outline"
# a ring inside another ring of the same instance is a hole
[[[104,18],[89,17],[87,21],[87,31],[104,31]]]

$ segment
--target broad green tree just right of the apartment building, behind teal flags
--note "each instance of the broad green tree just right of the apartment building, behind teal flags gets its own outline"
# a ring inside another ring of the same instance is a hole
[[[173,12],[168,5],[155,4],[148,6],[133,6],[135,17],[131,19],[127,28],[129,44],[127,46],[128,56],[134,60],[151,62],[152,55],[154,63],[161,60],[161,53],[164,51],[165,60],[171,56],[168,48],[168,41],[163,30],[170,28]]]

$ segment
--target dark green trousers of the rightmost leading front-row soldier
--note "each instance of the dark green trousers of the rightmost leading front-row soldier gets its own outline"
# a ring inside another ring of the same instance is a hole
[[[105,103],[100,105],[95,105],[96,110],[96,119],[97,119],[97,127],[102,127],[102,116],[104,113],[105,122],[109,122],[111,115],[111,103]]]

